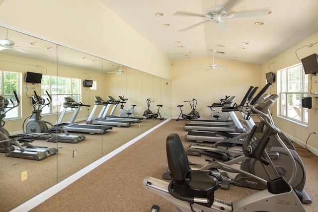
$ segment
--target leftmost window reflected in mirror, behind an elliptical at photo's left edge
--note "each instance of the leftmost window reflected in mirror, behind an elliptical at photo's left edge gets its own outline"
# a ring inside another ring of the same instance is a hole
[[[9,104],[6,107],[6,111],[8,112],[5,113],[4,119],[20,118],[19,107],[14,107],[17,105],[17,101],[13,93],[13,91],[16,91],[17,96],[19,98],[20,75],[21,74],[18,72],[1,71],[0,95],[9,101]],[[10,99],[13,101],[13,104],[10,101]],[[14,107],[12,110],[8,110],[9,108],[12,108],[12,107]]]

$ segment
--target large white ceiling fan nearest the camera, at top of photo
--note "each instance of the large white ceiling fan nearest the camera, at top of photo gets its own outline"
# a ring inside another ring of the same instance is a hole
[[[200,24],[212,21],[213,23],[222,24],[223,19],[232,19],[232,18],[244,18],[244,17],[252,17],[252,16],[260,16],[270,14],[269,10],[250,10],[244,12],[236,12],[231,11],[231,8],[238,2],[239,0],[230,0],[226,5],[216,5],[207,9],[206,13],[196,13],[189,11],[177,11],[174,14],[176,15],[188,15],[188,16],[198,16],[208,18],[207,20],[203,20],[199,23],[193,24],[191,26],[180,29],[179,31],[185,31],[192,27],[198,26]]]

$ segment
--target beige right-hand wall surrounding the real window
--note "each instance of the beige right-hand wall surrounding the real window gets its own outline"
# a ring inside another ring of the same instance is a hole
[[[318,44],[314,45],[313,47],[304,47],[310,43],[318,42],[318,33],[310,36],[309,38],[303,40],[299,44],[293,46],[292,48],[284,51],[283,53],[277,55],[276,57],[272,58],[271,60],[267,61],[262,65],[261,68],[261,83],[264,85],[266,83],[265,73],[269,72],[268,65],[275,62],[274,64],[270,65],[270,70],[277,75],[277,70],[284,69],[290,67],[295,64],[301,63],[299,59],[305,58],[311,54],[318,53]],[[304,48],[301,48],[304,47]],[[301,49],[299,49],[301,48]],[[297,50],[299,49],[299,50]],[[295,54],[297,50],[297,56]],[[310,78],[310,77],[309,77]],[[318,80],[318,76],[313,77],[313,81]],[[310,81],[309,81],[310,86]],[[271,93],[277,93],[277,82],[274,82],[270,89]],[[314,91],[314,90],[313,90]],[[316,90],[318,92],[318,90]],[[316,95],[317,96],[317,95]],[[318,96],[317,96],[318,97]],[[282,118],[278,118],[277,115],[277,105],[275,104],[272,108],[273,118],[276,124],[280,127],[282,131],[286,134],[291,136],[294,141],[297,141],[301,145],[305,146],[305,142],[309,137],[310,133],[318,131],[318,109],[310,109],[309,110],[309,121],[308,127],[302,127],[298,124],[295,124],[290,121],[286,121]],[[318,137],[315,135],[311,135],[308,139],[307,147],[318,154]]]

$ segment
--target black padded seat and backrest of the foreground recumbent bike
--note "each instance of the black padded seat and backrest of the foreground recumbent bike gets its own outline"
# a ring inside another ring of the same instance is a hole
[[[219,186],[218,179],[204,171],[191,171],[186,151],[177,134],[167,137],[166,151],[172,177],[168,186],[169,193],[190,203],[193,203],[195,198],[205,198],[207,203],[202,205],[210,207],[214,201],[214,191]]]

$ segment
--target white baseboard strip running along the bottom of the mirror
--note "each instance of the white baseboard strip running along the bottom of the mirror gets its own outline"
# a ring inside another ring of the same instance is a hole
[[[34,196],[33,198],[29,199],[28,201],[22,203],[21,205],[17,206],[16,208],[12,209],[10,212],[26,212],[26,211],[29,211],[29,210],[33,209],[34,207],[40,205],[41,203],[43,203],[44,201],[46,201],[47,199],[49,199],[53,195],[57,194],[58,192],[60,192],[64,188],[66,188],[67,186],[69,186],[72,183],[74,183],[75,181],[77,181],[79,178],[81,178],[82,176],[84,176],[85,174],[90,172],[91,170],[95,169],[96,167],[98,167],[102,163],[106,162],[108,159],[112,158],[113,156],[115,156],[116,154],[118,154],[119,152],[121,152],[122,150],[127,148],[128,146],[139,141],[141,138],[145,137],[146,135],[153,132],[154,130],[156,130],[157,128],[164,125],[166,122],[168,122],[170,120],[171,120],[171,118],[168,118],[168,119],[162,121],[160,124],[156,125],[152,129],[146,131],[145,133],[141,134],[140,136],[136,137],[135,139],[128,141],[124,145],[118,147],[114,151],[108,153],[107,155],[96,160],[95,162],[89,164],[88,166],[79,170],[78,172],[76,172],[75,174],[66,178],[65,180],[62,180],[61,182],[57,183],[56,185],[52,186],[51,188],[43,191],[42,193]]]

